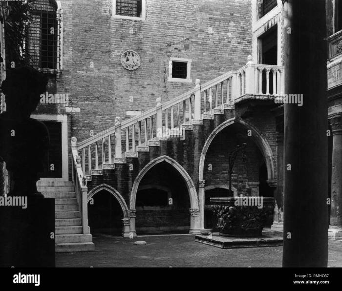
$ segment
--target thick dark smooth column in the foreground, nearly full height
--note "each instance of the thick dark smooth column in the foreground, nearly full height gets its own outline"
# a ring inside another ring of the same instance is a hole
[[[328,139],[324,0],[283,0],[285,93],[303,105],[284,109],[283,267],[326,267]]]

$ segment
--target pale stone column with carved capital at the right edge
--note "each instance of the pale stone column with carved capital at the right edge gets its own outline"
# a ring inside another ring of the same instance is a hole
[[[333,134],[329,238],[342,238],[342,113],[329,117]]]

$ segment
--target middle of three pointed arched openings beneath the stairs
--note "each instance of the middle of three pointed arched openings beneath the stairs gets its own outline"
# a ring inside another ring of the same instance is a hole
[[[190,197],[179,171],[165,161],[152,166],[136,195],[137,234],[188,233]]]

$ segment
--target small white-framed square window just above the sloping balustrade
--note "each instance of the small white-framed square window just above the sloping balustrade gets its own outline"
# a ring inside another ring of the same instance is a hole
[[[191,60],[171,58],[169,62],[170,82],[192,82],[190,79]]]

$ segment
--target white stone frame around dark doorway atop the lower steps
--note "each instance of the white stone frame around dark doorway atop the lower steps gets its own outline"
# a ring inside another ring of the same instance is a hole
[[[60,181],[69,181],[69,172],[68,172],[68,119],[67,115],[50,115],[50,114],[32,114],[32,118],[40,120],[40,121],[57,121],[62,122],[62,178],[41,178],[38,181],[39,184],[46,184],[46,182],[60,182]]]

